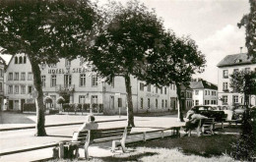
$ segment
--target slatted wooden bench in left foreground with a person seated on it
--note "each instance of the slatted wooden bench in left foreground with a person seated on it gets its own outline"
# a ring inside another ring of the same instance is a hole
[[[78,157],[78,149],[83,146],[85,148],[85,158],[89,158],[89,145],[97,142],[111,141],[111,151],[115,150],[116,144],[120,143],[122,151],[125,152],[126,136],[130,135],[131,127],[112,128],[112,129],[98,129],[91,131],[75,132],[70,144],[77,145],[75,156]],[[75,136],[75,137],[74,137]]]

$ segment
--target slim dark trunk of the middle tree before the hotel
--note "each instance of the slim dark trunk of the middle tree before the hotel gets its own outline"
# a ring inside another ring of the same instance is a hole
[[[133,116],[133,100],[132,100],[132,87],[131,87],[131,79],[129,75],[124,77],[125,80],[125,87],[127,92],[127,103],[128,103],[128,127],[135,127],[134,125],[134,116]]]

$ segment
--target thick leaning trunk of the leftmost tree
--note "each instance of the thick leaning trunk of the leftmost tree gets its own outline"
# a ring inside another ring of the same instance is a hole
[[[32,64],[32,74],[33,74],[33,85],[35,90],[37,91],[37,97],[35,98],[35,107],[36,107],[36,125],[35,125],[35,136],[44,136],[46,135],[44,129],[44,105],[43,105],[43,92],[41,88],[41,72],[38,66],[38,62],[34,61],[30,57],[30,61]]]

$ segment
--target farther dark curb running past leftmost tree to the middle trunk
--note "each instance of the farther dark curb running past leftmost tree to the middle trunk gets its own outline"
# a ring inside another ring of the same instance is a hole
[[[118,120],[111,120],[111,121],[97,121],[96,123],[105,123],[105,122],[118,122],[118,121],[126,121],[127,119],[118,119]],[[82,125],[84,122],[78,123],[66,123],[66,124],[55,124],[55,125],[47,125],[47,127],[59,127],[59,126],[72,126],[72,125]],[[28,129],[35,129],[35,126],[28,126],[28,127],[20,127],[20,128],[8,128],[8,129],[0,129],[0,132],[4,131],[16,131],[16,130],[28,130]]]

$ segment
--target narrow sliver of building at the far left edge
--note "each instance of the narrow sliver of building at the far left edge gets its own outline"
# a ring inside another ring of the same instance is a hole
[[[5,72],[5,61],[0,57],[0,110],[5,109],[4,103],[4,72]]]

